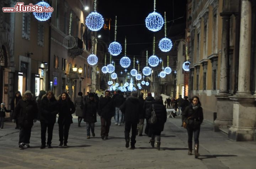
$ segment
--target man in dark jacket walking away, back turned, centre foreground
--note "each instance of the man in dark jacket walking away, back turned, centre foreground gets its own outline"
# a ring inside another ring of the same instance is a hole
[[[132,136],[131,136],[131,149],[135,148],[136,143],[136,131],[137,131],[137,124],[139,122],[140,113],[142,113],[142,105],[140,105],[138,93],[133,91],[131,96],[129,96],[126,101],[120,106],[120,110],[125,114],[124,121],[124,136],[126,140],[126,148],[129,147],[130,142],[130,129],[132,128]]]

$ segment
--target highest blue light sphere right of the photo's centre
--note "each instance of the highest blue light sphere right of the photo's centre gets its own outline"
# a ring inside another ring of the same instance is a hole
[[[145,19],[146,27],[153,31],[159,31],[164,25],[164,18],[160,13],[152,12]]]

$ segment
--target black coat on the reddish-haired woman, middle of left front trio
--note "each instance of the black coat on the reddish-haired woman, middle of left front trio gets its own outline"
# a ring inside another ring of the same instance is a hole
[[[58,101],[55,97],[47,99],[46,94],[43,95],[40,102],[39,120],[43,123],[55,123],[56,115],[58,114]]]

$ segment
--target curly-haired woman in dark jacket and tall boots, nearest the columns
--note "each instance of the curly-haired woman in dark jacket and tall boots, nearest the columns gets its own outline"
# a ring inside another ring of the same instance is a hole
[[[188,120],[187,133],[188,133],[188,155],[192,155],[192,138],[194,133],[194,155],[195,158],[199,156],[199,133],[200,126],[203,122],[203,109],[197,96],[191,98],[191,105],[187,106],[182,112],[182,119]]]

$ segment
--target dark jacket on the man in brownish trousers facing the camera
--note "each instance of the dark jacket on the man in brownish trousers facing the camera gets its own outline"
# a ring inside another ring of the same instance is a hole
[[[111,118],[115,115],[116,109],[111,98],[103,97],[98,105],[98,115],[103,118]]]

